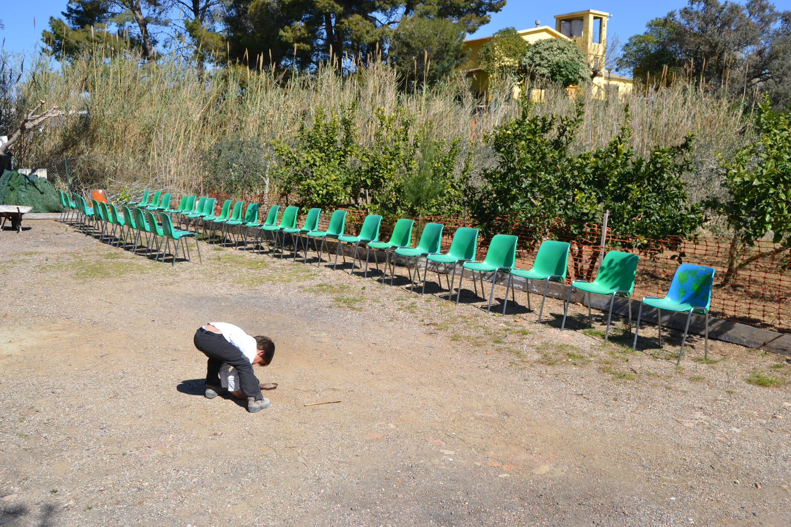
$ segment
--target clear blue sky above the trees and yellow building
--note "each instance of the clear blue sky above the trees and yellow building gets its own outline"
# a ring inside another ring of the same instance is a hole
[[[66,9],[66,0],[2,0],[2,4],[0,19],[6,28],[0,29],[0,42],[5,39],[6,51],[17,52],[32,51],[40,43],[41,31],[47,28],[49,17],[59,17],[60,12]],[[517,29],[532,28],[536,20],[541,21],[542,25],[553,26],[554,15],[582,9],[599,9],[611,13],[612,18],[607,23],[608,31],[615,32],[621,43],[624,43],[630,36],[642,32],[645,22],[685,4],[685,0],[654,0],[640,2],[639,6],[634,4],[634,0],[558,0],[547,5],[543,2],[534,4],[524,0],[508,0],[500,13],[492,15],[491,22],[471,37],[491,35],[498,29],[509,26]],[[776,0],[774,5],[778,9],[791,9],[791,0]]]

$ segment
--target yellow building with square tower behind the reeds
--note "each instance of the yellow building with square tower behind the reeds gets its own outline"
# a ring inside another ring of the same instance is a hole
[[[607,18],[610,13],[587,9],[575,13],[555,15],[554,28],[548,25],[540,25],[536,21],[536,27],[518,31],[519,35],[528,43],[535,43],[542,39],[568,39],[573,40],[580,47],[588,64],[593,70],[600,71],[600,76],[594,77],[592,81],[593,96],[606,97],[610,94],[623,95],[632,92],[634,82],[629,77],[623,77],[617,73],[607,72],[606,65],[607,53]],[[465,40],[465,47],[469,50],[467,62],[464,70],[468,77],[472,77],[472,90],[475,92],[486,92],[489,84],[488,75],[483,71],[478,62],[478,54],[491,36],[484,36],[479,39]],[[515,96],[521,92],[518,86],[514,87]],[[573,89],[571,90],[573,92]],[[543,96],[534,93],[534,98],[540,100]]]

